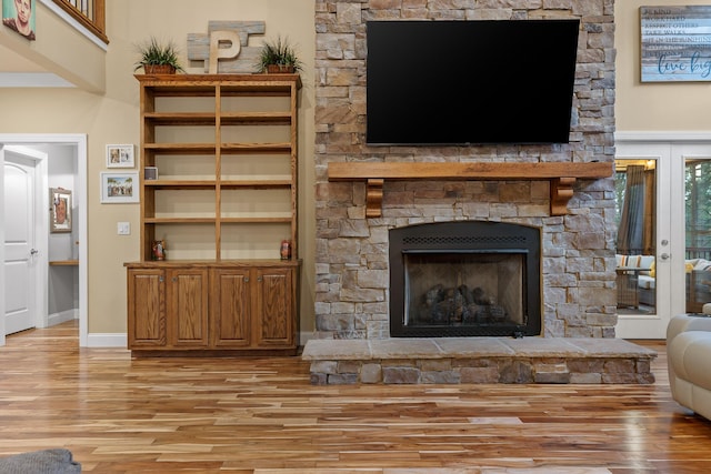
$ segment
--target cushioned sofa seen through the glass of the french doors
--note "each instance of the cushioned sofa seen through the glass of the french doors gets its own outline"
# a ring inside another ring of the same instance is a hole
[[[691,259],[687,269],[687,312],[701,313],[711,302],[711,261]],[[654,255],[617,255],[618,306],[655,304],[657,268]]]

